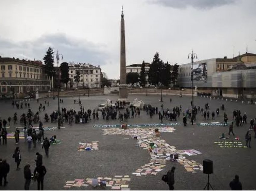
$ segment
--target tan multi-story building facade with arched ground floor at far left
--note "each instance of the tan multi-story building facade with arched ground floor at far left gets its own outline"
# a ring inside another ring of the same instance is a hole
[[[50,89],[41,61],[0,57],[0,96],[12,97]]]

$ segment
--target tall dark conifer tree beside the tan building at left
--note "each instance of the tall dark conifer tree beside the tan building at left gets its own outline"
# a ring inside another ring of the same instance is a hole
[[[53,59],[53,50],[51,47],[48,48],[45,57],[43,58],[45,62],[45,73],[50,77],[50,85],[52,89],[52,77],[55,75],[54,70],[54,59]]]

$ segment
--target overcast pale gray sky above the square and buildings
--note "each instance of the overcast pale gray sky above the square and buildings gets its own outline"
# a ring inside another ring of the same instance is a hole
[[[0,56],[42,60],[50,46],[119,78],[122,5],[126,65],[256,53],[255,0],[1,0]]]

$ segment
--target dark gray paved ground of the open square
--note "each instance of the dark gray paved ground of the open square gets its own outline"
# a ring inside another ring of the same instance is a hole
[[[170,103],[170,97],[172,102]],[[87,110],[88,108],[94,109],[98,104],[103,103],[106,98],[111,99],[113,102],[117,100],[117,96],[90,96],[81,97],[83,106]],[[129,99],[135,98],[142,99],[146,104],[158,106],[161,108],[159,102],[159,95],[130,95]],[[65,97],[64,103],[60,107],[66,107],[67,109],[74,108],[76,111],[79,110],[79,105],[73,104],[73,99],[76,97]],[[190,108],[191,97],[183,96],[164,96],[164,108],[173,108],[174,106],[182,105],[183,109]],[[58,108],[57,99],[53,100],[48,98],[50,106],[46,106],[46,112],[50,114],[53,110]],[[225,102],[221,100],[210,100],[207,98],[196,97],[195,105],[203,107],[208,102],[210,105],[209,111],[216,111],[217,107],[224,104],[226,107],[226,113],[229,121],[232,120],[233,109],[240,109],[242,113],[246,112],[248,121],[251,118],[255,118],[255,105],[248,105]],[[44,105],[44,99],[39,100],[39,103]],[[30,101],[32,111],[38,109],[38,103],[33,100]],[[11,107],[10,101],[0,102],[0,117],[1,119],[7,119],[8,116],[13,117],[14,112],[17,112],[20,116],[27,110],[16,110]],[[24,106],[23,106],[24,108]],[[40,115],[43,118],[45,112]],[[101,115],[99,120],[90,121],[87,124],[73,124],[68,126],[64,123],[64,129],[46,130],[45,136],[50,137],[57,135],[57,139],[61,140],[61,144],[52,145],[49,151],[49,158],[44,157],[44,150],[42,147],[37,145],[37,148],[28,150],[27,144],[21,139],[19,147],[21,150],[22,161],[20,167],[22,170],[16,171],[16,163],[11,158],[12,153],[16,147],[14,139],[8,139],[8,145],[0,145],[0,157],[7,159],[10,164],[10,173],[8,174],[8,185],[6,187],[0,187],[4,190],[20,190],[24,189],[24,177],[23,167],[29,162],[31,164],[31,170],[35,168],[35,153],[40,152],[43,154],[43,163],[47,169],[45,175],[45,189],[47,190],[66,190],[63,188],[67,180],[75,180],[76,178],[97,178],[97,177],[114,177],[115,175],[126,175],[129,174],[131,177],[129,187],[131,190],[168,190],[168,186],[161,180],[163,174],[165,174],[172,166],[176,167],[175,171],[175,184],[176,190],[202,190],[207,183],[207,175],[203,174],[202,171],[197,173],[187,172],[183,165],[177,162],[166,163],[164,170],[159,172],[157,175],[147,176],[134,176],[132,175],[136,169],[142,165],[147,164],[150,161],[150,155],[147,150],[136,147],[136,140],[128,135],[102,135],[103,128],[93,127],[98,124],[121,124],[118,120],[110,120],[108,122],[102,120]],[[220,111],[220,117],[216,117],[214,122],[223,121],[223,111]],[[164,120],[169,123],[170,121]],[[173,145],[177,150],[195,149],[200,151],[202,154],[197,156],[186,156],[189,160],[195,160],[196,162],[203,164],[204,159],[211,159],[214,163],[214,174],[210,175],[211,185],[216,190],[228,190],[229,182],[234,178],[235,174],[240,176],[243,189],[252,190],[256,188],[254,178],[256,177],[255,172],[255,150],[256,150],[256,139],[254,139],[254,132],[252,134],[251,147],[252,148],[220,148],[214,141],[220,141],[219,136],[222,132],[228,133],[228,127],[223,126],[198,126],[188,125],[184,127],[182,125],[182,119],[177,120],[179,125],[172,126],[176,129],[172,133],[161,133],[161,139],[164,139],[166,143]],[[199,115],[196,123],[206,122],[203,117]],[[213,122],[213,121],[211,121]],[[144,111],[141,116],[134,119],[129,119],[128,124],[143,124],[143,123],[160,123],[158,115],[154,115],[152,119]],[[20,126],[17,124],[17,126]],[[36,125],[38,126],[38,125]],[[56,123],[44,123],[44,126],[57,126]],[[242,127],[234,127],[234,133],[240,138],[240,141],[245,145],[245,133],[249,129],[249,125]],[[14,132],[15,126],[11,124],[11,127],[7,129],[8,132]],[[129,138],[129,139],[125,139]],[[77,151],[79,142],[91,142],[99,141],[99,150],[95,151]],[[236,141],[231,135],[229,139],[223,141]],[[30,189],[37,189],[37,183],[32,182]],[[76,189],[92,189],[88,187],[73,187],[67,190]],[[96,190],[99,188],[96,188]],[[107,188],[109,189],[109,188]]]

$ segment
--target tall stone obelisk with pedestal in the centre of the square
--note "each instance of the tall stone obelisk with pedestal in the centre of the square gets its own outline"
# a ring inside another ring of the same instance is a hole
[[[121,39],[120,39],[120,86],[119,99],[126,99],[128,97],[128,86],[126,84],[126,58],[125,58],[125,30],[123,19],[123,6],[121,14]]]

